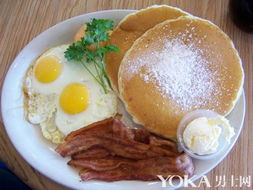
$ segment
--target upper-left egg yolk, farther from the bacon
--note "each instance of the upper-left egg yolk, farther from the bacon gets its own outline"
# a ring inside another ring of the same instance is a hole
[[[41,83],[53,82],[59,77],[62,65],[55,56],[47,56],[38,60],[35,66],[35,76]]]

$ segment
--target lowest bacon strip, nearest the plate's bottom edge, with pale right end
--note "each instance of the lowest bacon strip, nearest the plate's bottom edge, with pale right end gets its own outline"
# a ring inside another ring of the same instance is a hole
[[[183,163],[182,160],[184,161]],[[165,178],[168,175],[192,176],[194,172],[191,159],[186,154],[181,154],[176,159],[171,157],[158,157],[133,162],[125,159],[109,158],[89,161],[70,161],[69,164],[84,168],[80,171],[80,176],[84,181],[92,179],[103,181],[149,181],[157,180],[157,175],[162,175]]]

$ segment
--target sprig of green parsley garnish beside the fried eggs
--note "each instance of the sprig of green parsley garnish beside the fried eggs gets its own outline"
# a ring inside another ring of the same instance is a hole
[[[87,23],[85,36],[78,42],[73,43],[64,52],[68,61],[77,61],[94,77],[94,79],[103,87],[107,93],[107,86],[111,87],[110,80],[105,71],[104,58],[107,53],[119,52],[119,49],[114,45],[101,43],[110,40],[108,31],[112,30],[114,23],[112,20],[95,19]],[[94,48],[91,48],[93,46]],[[88,64],[95,67],[96,73],[92,73],[88,68]]]

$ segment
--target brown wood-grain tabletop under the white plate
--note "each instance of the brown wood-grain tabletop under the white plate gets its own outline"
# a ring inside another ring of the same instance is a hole
[[[215,185],[216,176],[231,175],[253,177],[253,34],[240,31],[228,15],[228,0],[1,0],[0,1],[0,81],[19,51],[35,36],[47,28],[76,15],[105,9],[140,9],[152,4],[168,4],[211,20],[234,41],[245,69],[247,113],[244,129],[236,145],[207,177]],[[38,173],[17,153],[8,139],[4,126],[0,126],[0,159],[33,189],[66,189]],[[190,188],[189,188],[190,189]],[[196,188],[192,188],[196,189]],[[206,189],[201,185],[200,189]],[[219,188],[222,189],[222,188]],[[230,184],[226,189],[230,189]],[[252,189],[252,185],[251,188]]]

